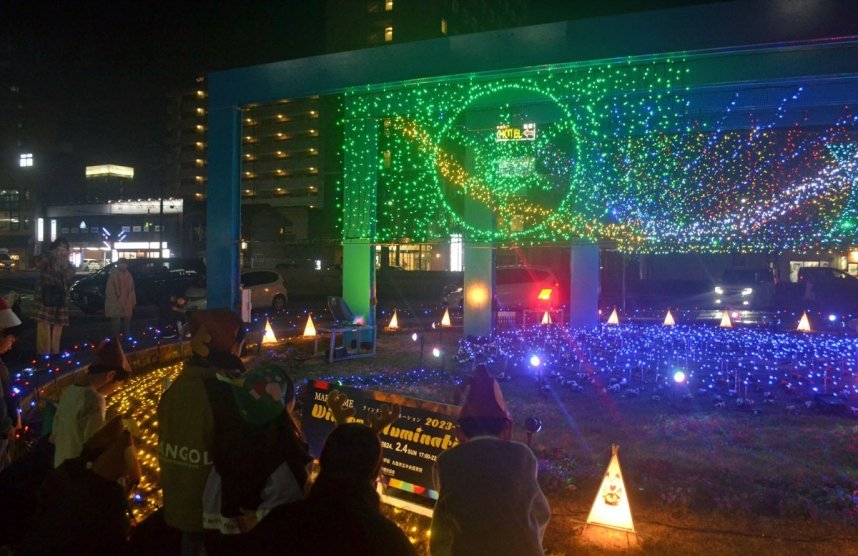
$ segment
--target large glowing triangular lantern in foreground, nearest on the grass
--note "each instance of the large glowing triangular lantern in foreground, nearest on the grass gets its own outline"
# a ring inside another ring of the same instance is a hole
[[[602,484],[582,535],[586,540],[602,545],[637,544],[635,524],[632,521],[632,509],[628,491],[620,471],[620,446],[611,446],[611,461],[605,470]],[[620,548],[620,546],[616,546]]]

